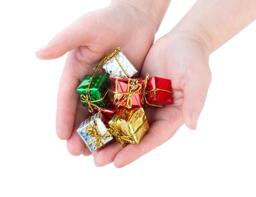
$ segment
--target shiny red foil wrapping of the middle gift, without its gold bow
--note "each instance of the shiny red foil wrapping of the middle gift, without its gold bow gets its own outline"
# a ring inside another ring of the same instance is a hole
[[[136,78],[139,84],[143,84],[143,79],[142,78]],[[133,92],[136,92],[139,86],[135,86],[133,89]],[[118,101],[123,99],[125,94],[122,93],[127,93],[128,92],[128,79],[127,78],[109,78],[109,84],[108,84],[108,89],[112,90],[108,91],[108,101],[111,104],[116,105]],[[118,92],[118,93],[113,93]],[[138,93],[141,93],[141,90],[138,91]],[[122,104],[119,106],[126,107],[127,106],[128,99],[126,99]],[[141,105],[141,94],[135,93],[134,95],[131,96],[131,107],[142,107]]]

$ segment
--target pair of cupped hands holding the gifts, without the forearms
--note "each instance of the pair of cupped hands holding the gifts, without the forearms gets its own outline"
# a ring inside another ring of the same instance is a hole
[[[36,52],[40,59],[55,59],[69,52],[58,90],[56,132],[67,140],[70,154],[91,154],[76,132],[79,123],[90,116],[76,88],[84,75],[93,74],[93,67],[117,47],[140,77],[148,73],[171,79],[174,103],[145,108],[151,128],[141,142],[123,148],[112,140],[92,153],[95,165],[113,162],[123,167],[169,140],[184,123],[192,130],[196,128],[211,81],[209,51],[198,34],[175,28],[154,43],[157,28],[140,10],[111,5],[80,17]]]

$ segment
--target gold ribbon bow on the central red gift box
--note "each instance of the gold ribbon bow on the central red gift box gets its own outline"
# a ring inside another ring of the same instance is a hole
[[[137,87],[137,89],[136,89]],[[135,90],[136,89],[136,90]],[[133,95],[139,95],[141,94],[142,85],[139,83],[137,79],[130,79],[128,78],[128,88],[127,92],[121,93],[121,92],[116,92],[113,90],[108,89],[108,92],[114,93],[114,94],[123,94],[124,96],[122,99],[116,102],[116,106],[120,106],[122,103],[126,101],[125,107],[128,109],[131,109],[132,107],[132,101],[131,101],[131,96]]]

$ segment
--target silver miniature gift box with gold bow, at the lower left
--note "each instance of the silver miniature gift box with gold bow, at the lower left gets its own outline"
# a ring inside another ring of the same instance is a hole
[[[91,152],[113,139],[113,136],[105,126],[107,124],[102,113],[98,112],[82,122],[76,130]]]

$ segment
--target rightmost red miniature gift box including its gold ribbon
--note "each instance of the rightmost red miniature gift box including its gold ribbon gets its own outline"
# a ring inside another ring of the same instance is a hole
[[[172,104],[172,85],[170,79],[146,75],[143,84],[143,106],[163,107]]]

